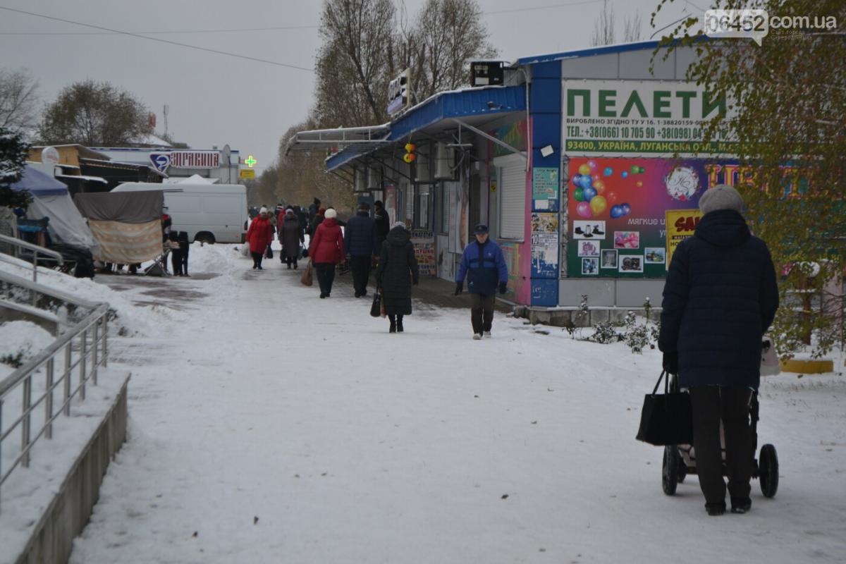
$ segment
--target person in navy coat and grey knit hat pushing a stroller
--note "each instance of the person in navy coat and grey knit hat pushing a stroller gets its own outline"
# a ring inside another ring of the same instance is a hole
[[[720,424],[732,512],[751,507],[755,458],[750,401],[761,380],[761,341],[778,309],[776,271],[751,235],[739,192],[718,185],[699,202],[694,236],[673,253],[661,313],[663,367],[688,388],[696,474],[706,512],[726,511]]]

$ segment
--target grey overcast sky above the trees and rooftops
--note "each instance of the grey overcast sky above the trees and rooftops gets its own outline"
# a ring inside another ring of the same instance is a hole
[[[643,37],[659,0],[610,0],[622,30],[624,16],[640,9]],[[415,14],[423,0],[406,0]],[[589,47],[602,0],[481,0],[491,41],[505,60]],[[572,5],[566,5],[572,4]],[[707,2],[697,1],[705,7]],[[303,68],[320,47],[320,0],[0,0],[0,6],[135,33],[179,31],[154,37],[219,52]],[[677,0],[662,9],[658,27],[698,13]],[[518,11],[519,10],[519,11]],[[217,31],[290,26],[289,30]],[[55,35],[73,33],[74,35]],[[85,35],[80,35],[85,34]],[[96,34],[96,35],[95,35]],[[271,163],[279,138],[305,118],[314,74],[133,36],[98,33],[60,21],[0,9],[0,68],[29,68],[42,101],[82,79],[106,80],[138,96],[157,114],[169,107],[168,133],[197,149],[229,144],[252,154],[258,168]]]

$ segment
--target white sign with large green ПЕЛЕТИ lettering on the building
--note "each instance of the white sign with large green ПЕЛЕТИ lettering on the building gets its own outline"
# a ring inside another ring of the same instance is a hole
[[[579,80],[563,84],[568,155],[725,154],[732,140],[703,142],[706,124],[735,115],[725,97],[684,81]]]

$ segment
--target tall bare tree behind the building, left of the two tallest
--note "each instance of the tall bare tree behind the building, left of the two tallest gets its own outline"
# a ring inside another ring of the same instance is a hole
[[[341,90],[324,89],[322,93],[340,96],[348,104],[360,104],[354,113],[366,115],[364,123],[382,123],[386,117],[384,93],[393,70],[390,59],[395,15],[392,0],[323,2],[321,36],[324,43],[316,65],[318,85],[322,86],[324,81],[327,84],[337,82],[338,78],[351,80]],[[339,71],[342,71],[340,77],[333,74]],[[354,96],[349,96],[350,93]],[[325,107],[318,106],[325,111]]]

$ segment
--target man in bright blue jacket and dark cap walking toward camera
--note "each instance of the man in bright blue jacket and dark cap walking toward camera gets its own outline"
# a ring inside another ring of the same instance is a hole
[[[464,292],[464,277],[467,277],[467,291],[470,292],[470,320],[473,323],[473,338],[491,337],[493,304],[497,289],[506,293],[508,266],[503,249],[488,238],[487,226],[480,223],[473,230],[476,240],[467,245],[461,256],[459,273],[455,277],[455,295]]]

